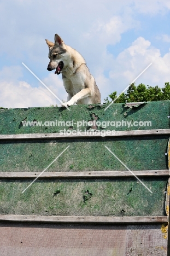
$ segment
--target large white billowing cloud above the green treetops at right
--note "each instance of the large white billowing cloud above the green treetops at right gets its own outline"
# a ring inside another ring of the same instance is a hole
[[[170,53],[161,57],[160,50],[153,48],[148,40],[137,38],[132,45],[122,51],[114,60],[114,69],[110,72],[110,78],[119,92],[124,90],[150,63],[153,63],[136,80],[136,84],[160,87],[165,82],[170,82]],[[120,82],[121,78],[121,82]]]

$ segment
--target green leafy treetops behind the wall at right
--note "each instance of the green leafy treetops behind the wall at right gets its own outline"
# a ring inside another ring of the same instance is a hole
[[[143,102],[143,101],[163,101],[170,100],[170,84],[165,83],[164,88],[159,88],[157,85],[155,87],[144,84],[139,84],[136,86],[134,83],[131,84],[127,90],[116,99],[117,92],[114,91],[109,97],[114,101],[114,103],[125,103],[125,102]],[[110,103],[108,98],[104,99],[105,103]]]

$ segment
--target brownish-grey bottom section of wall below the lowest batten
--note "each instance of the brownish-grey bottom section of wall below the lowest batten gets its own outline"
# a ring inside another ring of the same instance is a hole
[[[166,256],[161,224],[0,223],[3,256]]]

